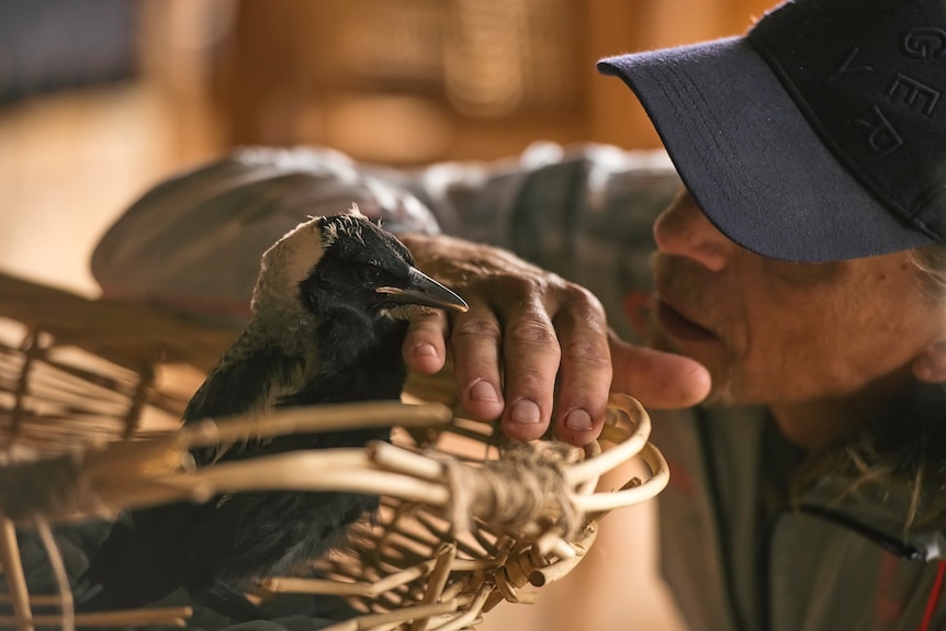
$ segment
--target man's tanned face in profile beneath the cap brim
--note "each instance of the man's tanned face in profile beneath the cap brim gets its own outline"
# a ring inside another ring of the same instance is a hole
[[[750,252],[680,193],[654,225],[654,345],[703,363],[711,403],[796,405],[890,392],[942,309],[905,252],[791,263]]]

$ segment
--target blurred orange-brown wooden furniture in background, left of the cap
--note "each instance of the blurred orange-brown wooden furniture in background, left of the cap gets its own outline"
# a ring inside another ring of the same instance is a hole
[[[221,81],[235,144],[388,164],[537,139],[657,146],[606,55],[741,33],[769,0],[240,0]]]

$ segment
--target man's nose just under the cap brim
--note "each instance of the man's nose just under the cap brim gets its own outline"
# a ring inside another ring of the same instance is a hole
[[[662,251],[687,257],[714,272],[725,267],[735,247],[687,191],[680,192],[654,222],[654,239]]]

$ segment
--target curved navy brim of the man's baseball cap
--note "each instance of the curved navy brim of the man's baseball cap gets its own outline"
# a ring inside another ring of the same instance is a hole
[[[598,70],[634,91],[687,189],[742,247],[821,262],[933,241],[834,159],[744,37],[611,57]]]

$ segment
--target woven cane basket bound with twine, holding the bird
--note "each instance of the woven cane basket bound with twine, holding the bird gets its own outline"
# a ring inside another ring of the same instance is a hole
[[[584,450],[509,444],[492,426],[455,414],[443,379],[416,376],[404,403],[180,428],[190,394],[234,331],[2,274],[0,296],[0,628],[183,627],[188,607],[75,613],[75,572],[58,529],[125,508],[293,488],[371,493],[381,510],[313,564],[306,576],[318,578],[268,578],[252,597],[263,605],[286,593],[344,598],[353,617],[331,631],[473,629],[504,600],[534,601],[586,554],[602,516],[667,483],[666,463],[647,442],[647,415],[620,395],[601,438]],[[188,457],[247,435],[369,425],[394,427],[393,443],[200,470]],[[598,488],[631,461],[640,476]],[[43,549],[44,567],[31,566],[24,533]],[[34,574],[50,578],[36,585]]]

